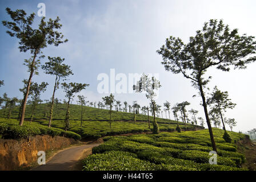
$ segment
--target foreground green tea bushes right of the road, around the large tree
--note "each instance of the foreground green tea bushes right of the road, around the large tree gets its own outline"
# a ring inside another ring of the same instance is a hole
[[[208,130],[199,130],[105,137],[105,143],[94,147],[93,155],[83,160],[83,170],[245,170],[241,168],[245,156],[237,152],[235,144],[245,135],[229,134],[233,141],[225,143],[223,130],[214,129],[217,165],[209,164]]]

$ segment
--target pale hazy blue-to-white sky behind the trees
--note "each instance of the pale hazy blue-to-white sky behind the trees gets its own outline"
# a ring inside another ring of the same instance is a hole
[[[156,53],[170,35],[187,42],[195,31],[200,30],[204,22],[210,19],[223,19],[230,28],[238,28],[239,34],[255,36],[256,1],[0,1],[0,20],[10,20],[5,12],[23,9],[30,13],[38,11],[38,3],[46,5],[46,19],[61,18],[61,32],[69,42],[61,46],[49,46],[43,50],[47,56],[65,57],[66,64],[71,65],[74,72],[70,76],[72,82],[83,82],[90,86],[82,92],[90,101],[101,101],[106,94],[97,92],[99,73],[110,75],[124,73],[158,73],[162,87],[159,90],[157,104],[166,100],[174,106],[177,102],[189,101],[187,108],[199,110],[198,117],[205,118],[201,97],[192,98],[198,93],[190,80],[182,75],[166,72],[161,65],[162,57]],[[36,17],[36,23],[40,18]],[[37,24],[35,24],[36,26]],[[22,80],[29,77],[23,60],[30,57],[29,53],[19,52],[18,39],[6,34],[6,28],[0,26],[1,63],[0,80],[5,81],[0,94],[9,97],[22,97],[19,88]],[[42,60],[45,63],[47,59]],[[207,75],[212,76],[209,88],[215,85],[229,96],[237,106],[225,113],[227,118],[235,118],[235,131],[247,131],[255,128],[255,75],[256,63],[248,65],[245,70],[221,72],[209,69]],[[42,69],[34,82],[49,83],[42,99],[49,99],[53,92],[54,77],[45,75]],[[118,82],[118,81],[117,81]],[[116,83],[117,83],[116,82]],[[64,99],[62,89],[56,96]],[[132,104],[137,100],[147,105],[144,94],[115,94],[115,98]],[[74,99],[75,104],[77,98]],[[163,114],[165,117],[165,114]],[[173,118],[173,115],[171,115]]]

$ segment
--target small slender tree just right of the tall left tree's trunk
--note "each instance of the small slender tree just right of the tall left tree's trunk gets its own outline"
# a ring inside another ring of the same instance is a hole
[[[41,101],[40,95],[41,93],[45,92],[47,85],[48,85],[47,82],[42,82],[40,85],[38,85],[37,83],[34,83],[31,86],[32,111],[31,111],[30,123],[33,121],[34,111],[38,105],[38,102]]]

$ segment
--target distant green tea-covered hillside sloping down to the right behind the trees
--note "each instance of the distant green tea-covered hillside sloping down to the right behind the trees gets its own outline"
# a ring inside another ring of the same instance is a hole
[[[26,125],[23,127],[47,127],[49,123],[49,119],[46,117],[49,115],[47,113],[47,104],[40,104],[37,106],[37,110],[35,111],[34,115],[34,121],[32,122],[33,125],[30,125],[29,122],[26,122]],[[137,114],[137,121],[133,121],[133,114],[132,113],[125,113],[125,112],[117,112],[113,111],[112,117],[114,118],[114,121],[111,123],[111,129],[110,129],[110,123],[109,123],[109,110],[106,109],[98,109],[94,107],[83,107],[83,121],[82,121],[82,127],[81,127],[81,106],[79,105],[71,105],[70,107],[70,131],[73,131],[73,133],[76,133],[80,137],[77,138],[100,138],[104,137],[106,135],[119,135],[119,134],[127,134],[127,133],[142,133],[142,132],[148,132],[153,129],[152,123],[151,127],[149,129],[148,123],[147,123],[147,115],[143,114]],[[18,110],[19,107],[15,107],[13,110],[12,118],[18,117]],[[26,110],[26,119],[30,119],[31,115],[31,105],[27,105]],[[66,112],[66,105],[64,104],[58,104],[55,106],[54,109],[54,120],[52,121],[51,126],[55,129],[65,129],[65,122],[64,122],[64,116]],[[7,110],[0,110],[0,117],[6,116]],[[153,120],[153,117],[150,117],[150,121]],[[5,123],[6,125],[15,125],[18,126],[18,121],[16,119],[10,119],[10,122],[4,122],[8,121],[8,119],[0,118],[0,122]],[[157,122],[159,123],[159,130],[160,131],[175,131],[175,128],[177,127],[177,122],[172,121],[169,119],[163,119],[163,118],[157,118]],[[37,125],[36,125],[37,123]],[[194,125],[187,124],[185,126],[184,123],[179,122],[179,125],[182,130],[195,130]],[[202,129],[201,126],[197,126],[197,128]],[[13,129],[13,127],[9,127],[10,131]],[[1,126],[0,126],[1,130]],[[25,129],[22,129],[25,130]],[[7,131],[6,131],[7,132]],[[1,133],[0,133],[1,135]],[[31,135],[30,133],[27,133],[27,135]]]

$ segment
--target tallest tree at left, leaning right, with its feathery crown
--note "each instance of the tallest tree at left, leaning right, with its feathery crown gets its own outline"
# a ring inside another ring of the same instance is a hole
[[[10,15],[13,21],[2,21],[3,26],[7,27],[9,30],[6,31],[10,36],[16,36],[19,39],[19,51],[27,52],[30,51],[31,59],[25,60],[25,64],[29,67],[29,80],[27,83],[26,94],[23,99],[22,114],[19,121],[19,125],[23,125],[27,97],[29,96],[30,84],[34,73],[37,73],[37,68],[40,64],[39,60],[36,60],[37,57],[41,59],[44,57],[42,54],[42,49],[46,48],[47,45],[53,44],[58,46],[61,43],[67,42],[63,39],[61,32],[57,30],[62,27],[62,24],[59,23],[59,17],[55,20],[49,19],[48,22],[45,21],[45,16],[42,17],[41,22],[38,25],[38,28],[33,28],[32,25],[35,18],[35,13],[26,16],[24,10],[11,11],[9,7],[6,7],[7,14]],[[40,56],[41,55],[41,56]]]

